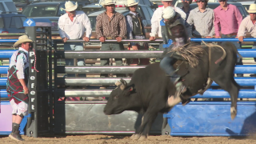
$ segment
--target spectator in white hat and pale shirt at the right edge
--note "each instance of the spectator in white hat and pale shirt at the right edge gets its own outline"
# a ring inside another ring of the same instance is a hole
[[[246,36],[246,31],[250,33],[253,38],[256,38],[256,4],[251,4],[249,10],[247,10],[250,16],[244,18],[238,29],[238,39],[240,42],[243,41],[244,36]],[[256,49],[256,42],[252,49]],[[254,58],[256,62],[256,58]],[[250,74],[250,76],[256,76],[256,74]]]

